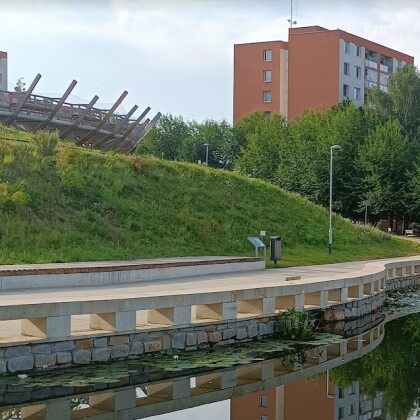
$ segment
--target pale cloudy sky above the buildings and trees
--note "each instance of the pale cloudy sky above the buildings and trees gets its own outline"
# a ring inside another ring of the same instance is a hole
[[[185,119],[232,121],[233,45],[288,38],[290,0],[0,0],[9,90],[97,94]],[[297,26],[340,28],[420,60],[420,0],[294,0]],[[80,101],[81,102],[81,101]]]

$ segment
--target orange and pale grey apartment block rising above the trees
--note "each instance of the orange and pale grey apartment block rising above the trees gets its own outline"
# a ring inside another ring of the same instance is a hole
[[[234,46],[233,120],[261,110],[292,120],[345,99],[363,106],[367,91],[388,91],[410,55],[340,29],[290,28],[289,40]]]

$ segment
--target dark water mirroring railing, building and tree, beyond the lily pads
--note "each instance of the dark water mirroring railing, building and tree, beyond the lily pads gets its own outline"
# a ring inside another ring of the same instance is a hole
[[[293,357],[169,379],[131,375],[112,388],[74,387],[73,395],[60,387],[15,385],[1,397],[0,418],[406,419],[419,402],[420,315],[384,331],[381,323]]]

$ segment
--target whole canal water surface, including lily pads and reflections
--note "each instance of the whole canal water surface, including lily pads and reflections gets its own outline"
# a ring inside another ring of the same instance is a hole
[[[420,314],[368,321],[298,345],[0,378],[0,419],[420,419]]]

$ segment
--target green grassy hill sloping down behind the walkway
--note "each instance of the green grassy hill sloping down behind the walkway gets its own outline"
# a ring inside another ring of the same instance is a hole
[[[29,143],[9,139],[27,140]],[[281,265],[420,254],[263,181],[203,166],[76,148],[0,126],[0,264],[253,255],[283,238]]]

